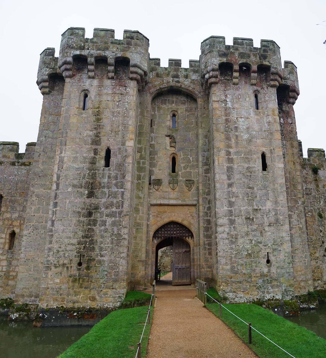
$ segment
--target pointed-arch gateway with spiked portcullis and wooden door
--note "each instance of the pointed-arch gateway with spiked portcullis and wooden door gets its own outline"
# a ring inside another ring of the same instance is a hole
[[[158,256],[161,248],[172,246],[172,285],[191,285],[191,250],[189,242],[193,233],[184,225],[171,221],[153,234],[155,248],[155,273],[158,272]]]

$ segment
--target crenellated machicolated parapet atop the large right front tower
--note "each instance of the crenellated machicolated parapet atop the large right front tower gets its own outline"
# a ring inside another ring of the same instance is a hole
[[[218,83],[222,69],[228,66],[233,84],[239,83],[239,72],[249,71],[250,84],[256,85],[257,73],[266,68],[270,72],[269,85],[277,87],[283,78],[280,48],[276,42],[261,40],[254,47],[252,39],[233,38],[233,45],[225,44],[225,37],[211,36],[201,44],[200,73],[204,87]]]

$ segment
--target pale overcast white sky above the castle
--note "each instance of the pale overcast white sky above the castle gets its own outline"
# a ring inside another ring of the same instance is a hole
[[[274,40],[282,63],[298,67],[300,96],[296,112],[298,138],[308,147],[326,149],[326,1],[0,1],[1,127],[0,141],[17,141],[20,152],[36,141],[42,95],[36,85],[39,54],[55,47],[68,27],[139,30],[150,39],[150,56],[199,59],[200,43],[211,35]]]

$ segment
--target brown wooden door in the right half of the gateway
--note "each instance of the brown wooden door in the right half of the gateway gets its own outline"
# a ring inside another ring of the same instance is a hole
[[[172,285],[190,284],[190,245],[185,240],[174,238]]]

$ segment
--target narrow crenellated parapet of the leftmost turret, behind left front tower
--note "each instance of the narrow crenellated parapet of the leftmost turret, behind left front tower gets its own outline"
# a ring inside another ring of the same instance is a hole
[[[58,58],[55,57],[55,49],[48,47],[40,54],[37,71],[36,83],[42,95],[47,95],[49,93],[49,76],[58,71]]]

